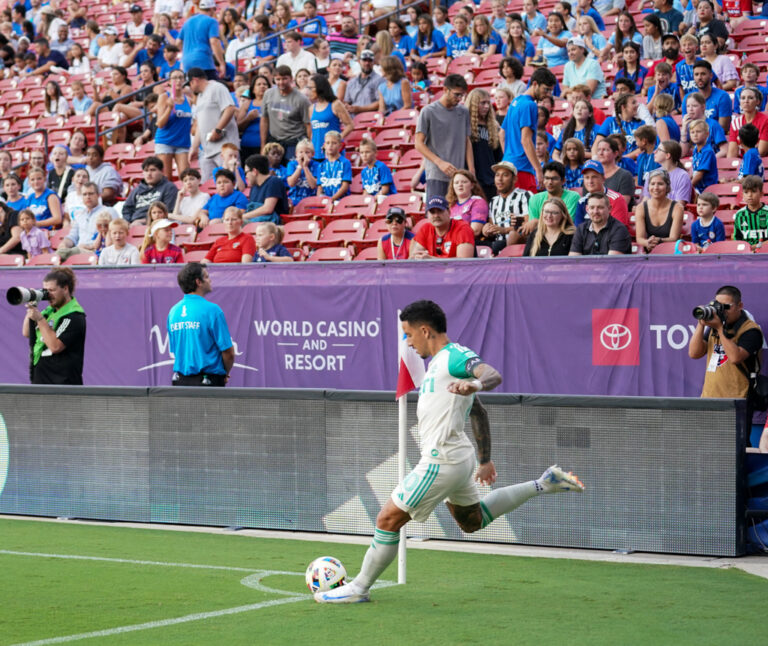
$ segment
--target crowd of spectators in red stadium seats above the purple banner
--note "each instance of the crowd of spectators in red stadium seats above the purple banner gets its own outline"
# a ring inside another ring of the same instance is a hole
[[[768,3],[685,1],[9,3],[0,264],[768,251]]]

